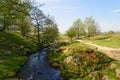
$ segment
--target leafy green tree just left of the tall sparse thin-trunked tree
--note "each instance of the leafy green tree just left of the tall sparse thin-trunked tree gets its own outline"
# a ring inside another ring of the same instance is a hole
[[[25,37],[31,31],[31,20],[29,12],[32,5],[30,4],[29,0],[20,0],[16,7],[16,20],[14,25],[17,26],[17,29],[21,32],[22,36]]]

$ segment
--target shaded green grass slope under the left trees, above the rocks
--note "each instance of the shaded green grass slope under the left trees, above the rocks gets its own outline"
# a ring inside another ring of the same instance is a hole
[[[22,37],[20,34],[13,32],[0,32],[0,51],[15,50],[24,46],[32,51],[35,51],[36,44],[32,39]]]

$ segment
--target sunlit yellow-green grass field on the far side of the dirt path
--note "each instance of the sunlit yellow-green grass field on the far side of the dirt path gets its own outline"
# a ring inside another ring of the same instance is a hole
[[[120,48],[120,34],[118,33],[98,35],[84,40],[106,47]]]

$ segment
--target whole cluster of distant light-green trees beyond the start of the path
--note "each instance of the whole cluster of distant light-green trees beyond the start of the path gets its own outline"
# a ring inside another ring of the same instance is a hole
[[[91,37],[100,33],[100,26],[92,17],[87,17],[84,21],[77,19],[73,25],[66,31],[66,35],[77,39],[81,37]]]

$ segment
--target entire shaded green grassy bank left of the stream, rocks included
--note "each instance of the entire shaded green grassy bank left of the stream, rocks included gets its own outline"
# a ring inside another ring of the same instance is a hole
[[[27,60],[26,56],[34,51],[36,43],[33,39],[15,32],[0,32],[0,80],[16,77]]]

